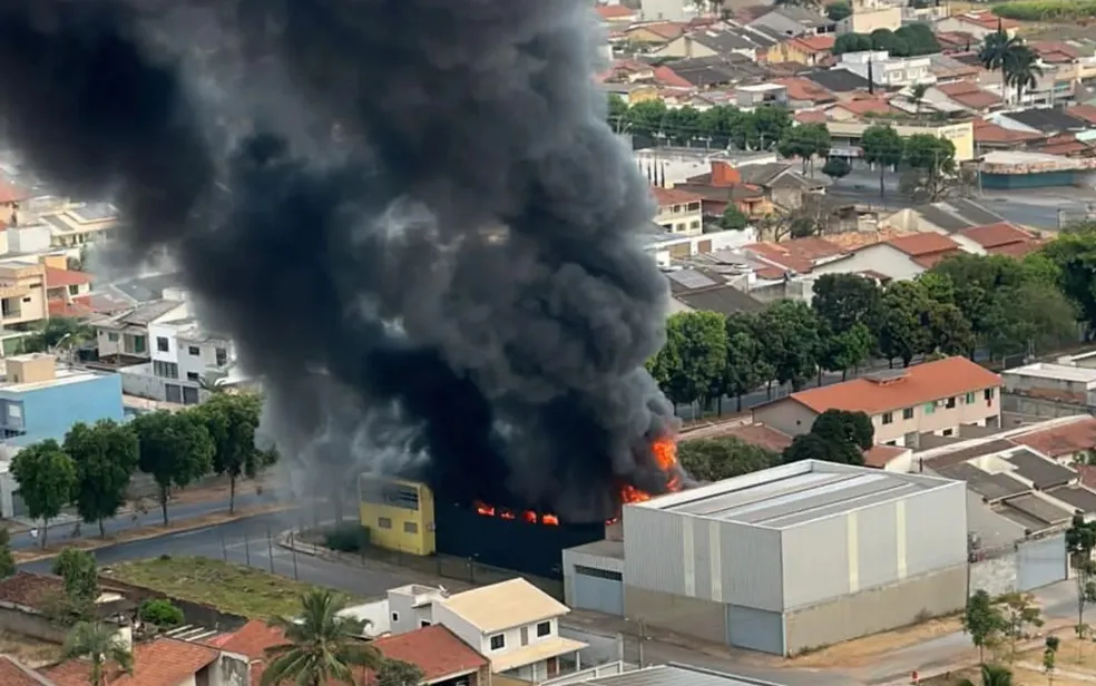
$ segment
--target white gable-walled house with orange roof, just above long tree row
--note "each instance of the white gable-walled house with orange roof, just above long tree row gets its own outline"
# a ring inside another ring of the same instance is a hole
[[[849,251],[842,258],[820,265],[811,274],[816,278],[823,274],[870,273],[880,281],[909,281],[961,252],[961,246],[947,236],[907,234]]]

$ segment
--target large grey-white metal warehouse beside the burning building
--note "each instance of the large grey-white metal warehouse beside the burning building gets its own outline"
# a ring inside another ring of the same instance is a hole
[[[888,630],[963,606],[966,486],[806,461],[663,496],[625,507],[622,577],[625,616],[743,648]]]

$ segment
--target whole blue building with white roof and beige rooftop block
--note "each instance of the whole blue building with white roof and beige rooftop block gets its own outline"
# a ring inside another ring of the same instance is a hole
[[[22,447],[60,440],[77,422],[120,421],[121,380],[115,374],[59,367],[52,355],[4,359],[0,382],[0,442]]]

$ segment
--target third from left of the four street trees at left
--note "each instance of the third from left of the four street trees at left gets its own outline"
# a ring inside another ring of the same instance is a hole
[[[150,412],[135,419],[131,425],[137,432],[137,467],[156,481],[166,527],[172,488],[186,488],[209,473],[215,450],[213,439],[189,412]]]

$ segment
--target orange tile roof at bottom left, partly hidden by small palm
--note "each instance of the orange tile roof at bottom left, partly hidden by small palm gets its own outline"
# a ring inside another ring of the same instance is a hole
[[[105,686],[179,686],[219,656],[202,644],[157,638],[134,648],[134,675],[108,670]],[[43,672],[57,686],[87,686],[88,663],[69,659]]]

